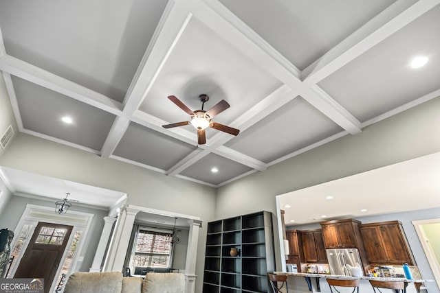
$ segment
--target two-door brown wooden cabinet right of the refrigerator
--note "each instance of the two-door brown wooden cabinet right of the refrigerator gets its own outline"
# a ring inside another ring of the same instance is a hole
[[[370,263],[415,265],[401,222],[361,224],[359,228]]]

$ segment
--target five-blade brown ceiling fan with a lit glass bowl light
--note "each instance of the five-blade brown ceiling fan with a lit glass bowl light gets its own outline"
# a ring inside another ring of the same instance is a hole
[[[197,141],[199,145],[203,145],[206,143],[206,134],[205,129],[210,127],[214,128],[232,135],[239,134],[240,130],[236,128],[232,128],[230,126],[225,126],[223,124],[219,124],[217,122],[211,121],[212,117],[218,115],[219,113],[223,112],[227,108],[230,107],[230,104],[226,102],[224,99],[222,99],[220,102],[215,104],[212,108],[209,110],[203,110],[203,106],[206,102],[208,102],[209,97],[208,95],[199,95],[199,99],[201,101],[201,110],[195,110],[192,111],[190,108],[188,108],[183,102],[181,102],[180,99],[177,99],[175,95],[168,96],[168,99],[171,100],[174,104],[176,104],[179,108],[184,110],[186,113],[188,113],[191,117],[191,121],[182,121],[172,124],[166,124],[162,125],[163,128],[173,128],[178,126],[186,126],[188,124],[192,124],[192,126],[197,129]]]

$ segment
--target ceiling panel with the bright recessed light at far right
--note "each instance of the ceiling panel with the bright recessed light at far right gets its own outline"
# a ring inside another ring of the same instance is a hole
[[[360,121],[440,88],[440,5],[366,51],[319,86]],[[428,64],[412,69],[417,56]]]

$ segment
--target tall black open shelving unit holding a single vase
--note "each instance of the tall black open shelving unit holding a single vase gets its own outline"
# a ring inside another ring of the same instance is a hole
[[[238,248],[239,255],[232,257],[231,248]],[[272,213],[209,222],[203,292],[270,292],[267,272],[274,271],[274,259]]]

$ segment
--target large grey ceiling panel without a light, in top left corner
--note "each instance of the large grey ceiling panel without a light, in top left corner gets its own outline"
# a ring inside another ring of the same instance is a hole
[[[0,25],[8,54],[119,102],[166,6],[164,0],[6,2],[0,1]]]

